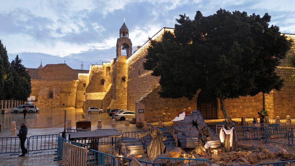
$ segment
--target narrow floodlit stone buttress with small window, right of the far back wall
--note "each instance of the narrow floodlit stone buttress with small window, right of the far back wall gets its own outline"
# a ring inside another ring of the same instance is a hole
[[[78,86],[76,93],[76,108],[83,108],[83,103],[85,101],[86,87],[88,85],[89,74],[79,74]],[[85,87],[84,87],[85,84]]]

